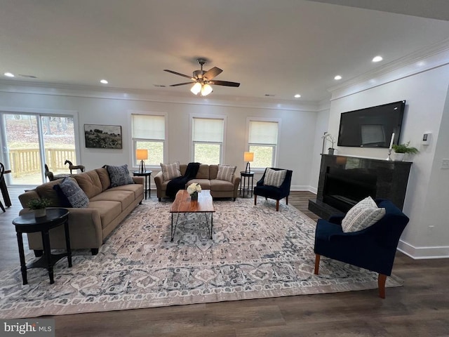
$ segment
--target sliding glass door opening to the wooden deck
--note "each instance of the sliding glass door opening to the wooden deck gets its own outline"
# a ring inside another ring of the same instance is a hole
[[[1,114],[3,161],[8,185],[39,185],[45,164],[54,174],[69,173],[65,161],[76,163],[74,119],[41,114]],[[2,132],[3,133],[3,132]]]

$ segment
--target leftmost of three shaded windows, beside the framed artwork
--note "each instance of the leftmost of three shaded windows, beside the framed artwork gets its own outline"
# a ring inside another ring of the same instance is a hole
[[[166,117],[149,114],[131,114],[133,130],[133,163],[139,166],[136,150],[148,150],[145,165],[159,166],[163,163],[166,141]]]

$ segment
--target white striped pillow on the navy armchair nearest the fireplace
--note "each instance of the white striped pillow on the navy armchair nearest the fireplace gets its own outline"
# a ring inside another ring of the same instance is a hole
[[[342,220],[343,232],[358,232],[374,225],[385,215],[385,209],[380,209],[371,197],[358,201]]]

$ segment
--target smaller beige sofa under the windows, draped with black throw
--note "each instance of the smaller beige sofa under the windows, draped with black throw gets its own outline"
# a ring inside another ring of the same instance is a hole
[[[180,171],[182,176],[185,175],[187,164],[180,164]],[[201,164],[199,166],[196,177],[189,180],[186,187],[192,183],[199,183],[203,190],[210,190],[210,195],[214,198],[234,198],[234,201],[239,194],[240,176],[234,173],[232,181],[217,179],[218,165]],[[163,173],[160,171],[154,176],[154,183],[156,183],[157,197],[159,201],[166,196],[167,184],[170,180],[163,180]]]

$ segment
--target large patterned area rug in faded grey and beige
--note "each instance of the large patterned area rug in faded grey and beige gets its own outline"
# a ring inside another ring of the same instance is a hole
[[[182,214],[170,242],[170,202],[145,200],[97,256],[75,251],[55,265],[0,273],[0,318],[67,315],[377,288],[377,274],[321,259],[314,275],[315,223],[292,206],[214,201],[213,240],[203,214]],[[34,255],[30,253],[27,261]],[[388,277],[387,286],[400,286]]]

